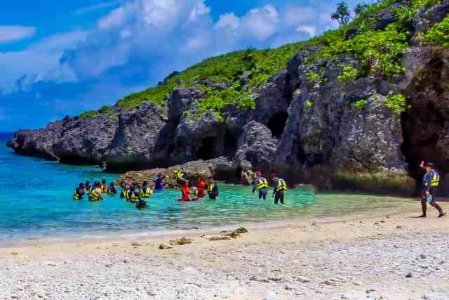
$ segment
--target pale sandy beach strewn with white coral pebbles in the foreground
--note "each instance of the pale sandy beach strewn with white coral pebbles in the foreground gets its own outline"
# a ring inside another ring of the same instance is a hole
[[[410,211],[232,240],[188,230],[172,249],[159,245],[173,236],[32,240],[0,248],[0,299],[449,299],[449,217]]]

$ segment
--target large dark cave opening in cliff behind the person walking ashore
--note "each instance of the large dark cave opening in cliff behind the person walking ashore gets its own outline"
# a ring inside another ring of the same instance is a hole
[[[445,159],[445,146],[442,140],[447,116],[442,113],[439,103],[433,99],[443,98],[445,81],[443,61],[439,56],[429,60],[420,74],[415,74],[405,94],[410,107],[401,114],[403,143],[401,152],[408,163],[408,174],[416,180],[416,191],[420,193],[423,171],[420,162],[436,164],[440,176],[449,170]],[[444,184],[442,184],[444,185]],[[441,186],[443,193],[447,187]]]

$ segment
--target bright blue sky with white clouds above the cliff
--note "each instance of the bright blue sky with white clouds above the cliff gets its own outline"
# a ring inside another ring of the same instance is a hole
[[[0,131],[113,104],[208,56],[334,28],[337,0],[15,0],[0,11]],[[355,1],[349,1],[354,5]]]

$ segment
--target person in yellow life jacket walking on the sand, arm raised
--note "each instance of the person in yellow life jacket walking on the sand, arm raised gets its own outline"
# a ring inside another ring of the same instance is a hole
[[[424,164],[424,161],[421,162],[420,167],[425,170],[424,177],[422,178],[422,196],[421,196],[421,208],[422,215],[418,218],[425,218],[427,216],[427,202],[432,207],[435,207],[438,210],[438,218],[441,218],[445,215],[443,209],[436,204],[436,192],[438,188],[438,184],[440,182],[440,175],[438,171],[434,169],[434,164],[431,162],[427,162]]]

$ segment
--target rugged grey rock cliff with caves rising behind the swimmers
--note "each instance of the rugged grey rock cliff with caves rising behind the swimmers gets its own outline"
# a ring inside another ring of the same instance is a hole
[[[377,13],[375,29],[396,22],[395,9],[404,3],[408,1]],[[243,178],[248,183],[251,170],[269,174],[276,169],[290,183],[410,195],[421,176],[421,159],[436,162],[443,176],[449,171],[449,51],[418,39],[448,12],[448,0],[417,10],[410,47],[402,58],[405,72],[392,78],[366,75],[342,82],[344,66],[366,66],[349,54],[308,61],[321,51],[311,43],[260,89],[246,86],[248,74],[241,76],[242,89],[256,100],[253,109],[228,105],[221,116],[213,110],[201,112],[206,94],[195,84],[217,91],[229,86],[206,79],[171,91],[165,107],[147,102],[121,112],[118,122],[107,116],[66,117],[46,129],[18,131],[8,146],[22,155],[67,163],[105,161],[109,170],[199,161],[194,176]],[[346,38],[359,30],[348,30]],[[409,106],[400,114],[386,105],[397,93],[406,96]],[[130,173],[121,180],[149,180],[159,172],[171,176],[172,171]]]

